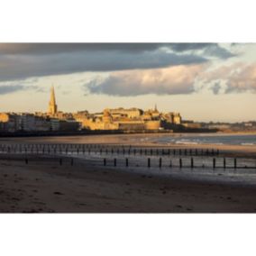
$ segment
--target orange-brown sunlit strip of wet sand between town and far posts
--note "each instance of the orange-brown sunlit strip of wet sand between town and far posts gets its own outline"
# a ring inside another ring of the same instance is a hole
[[[243,133],[239,133],[243,134]],[[248,133],[244,133],[248,134]],[[252,133],[254,134],[254,133]],[[214,149],[224,152],[231,157],[256,158],[256,145],[227,145],[227,144],[160,144],[144,140],[146,138],[156,139],[164,136],[176,136],[183,138],[187,135],[227,135],[225,133],[140,133],[140,134],[111,134],[111,135],[86,135],[86,136],[52,136],[52,137],[19,137],[0,138],[1,143],[85,143],[85,144],[107,144],[107,145],[132,145],[144,148],[169,148],[169,149]],[[230,135],[230,134],[228,134]],[[232,134],[236,135],[236,133]]]

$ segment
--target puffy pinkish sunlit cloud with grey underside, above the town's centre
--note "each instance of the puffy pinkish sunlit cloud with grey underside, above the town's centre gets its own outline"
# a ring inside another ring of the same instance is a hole
[[[205,68],[204,65],[179,65],[166,69],[119,71],[100,83],[92,81],[86,87],[90,93],[112,96],[190,94],[195,91],[198,74]]]

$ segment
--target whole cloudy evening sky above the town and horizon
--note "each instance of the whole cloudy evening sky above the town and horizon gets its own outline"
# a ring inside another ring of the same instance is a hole
[[[256,121],[253,43],[0,43],[0,112],[156,104],[200,122]]]

